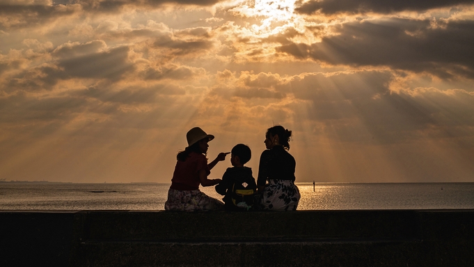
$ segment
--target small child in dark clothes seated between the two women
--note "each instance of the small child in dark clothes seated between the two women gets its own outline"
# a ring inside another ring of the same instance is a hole
[[[216,185],[216,192],[224,195],[226,211],[248,211],[257,190],[252,169],[244,166],[251,158],[251,150],[244,144],[237,144],[230,153],[230,163],[234,167],[226,170],[221,183]]]

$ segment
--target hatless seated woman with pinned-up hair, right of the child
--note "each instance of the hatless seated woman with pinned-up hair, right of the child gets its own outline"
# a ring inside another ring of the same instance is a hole
[[[267,130],[265,146],[258,166],[260,208],[268,211],[296,211],[300,199],[294,184],[296,161],[288,153],[292,131],[276,125]]]

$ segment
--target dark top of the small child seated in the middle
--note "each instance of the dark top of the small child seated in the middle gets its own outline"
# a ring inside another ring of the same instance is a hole
[[[252,169],[248,167],[227,168],[226,172],[222,176],[221,183],[216,185],[216,192],[224,195],[224,198],[222,199],[224,203],[231,203],[232,186],[234,184],[242,185],[242,183],[247,184],[244,186],[245,189],[257,189],[255,178],[252,176]]]

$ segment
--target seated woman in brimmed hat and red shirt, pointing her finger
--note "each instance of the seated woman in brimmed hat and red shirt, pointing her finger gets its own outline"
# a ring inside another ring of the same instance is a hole
[[[186,135],[188,146],[177,154],[177,162],[168,200],[164,204],[166,211],[217,211],[223,209],[223,203],[207,196],[199,190],[199,185],[212,186],[221,183],[221,179],[208,179],[211,169],[217,162],[226,160],[227,153],[219,153],[215,160],[207,164],[207,148],[214,135],[207,135],[201,128],[195,127]]]

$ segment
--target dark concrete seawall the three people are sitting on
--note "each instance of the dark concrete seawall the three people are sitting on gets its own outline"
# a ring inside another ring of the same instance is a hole
[[[474,266],[474,210],[0,211],[0,266]]]

